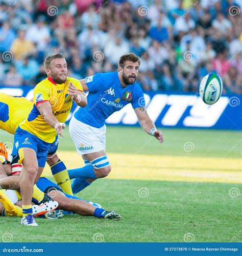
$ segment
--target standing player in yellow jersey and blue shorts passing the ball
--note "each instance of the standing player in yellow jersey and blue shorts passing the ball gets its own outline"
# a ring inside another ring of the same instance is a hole
[[[44,69],[47,78],[34,88],[33,109],[19,124],[14,136],[13,155],[18,154],[23,165],[20,176],[21,224],[28,226],[38,226],[32,216],[33,186],[43,171],[51,144],[57,134],[63,136],[72,100],[79,106],[87,105],[81,83],[67,77],[67,64],[61,53],[47,56]]]

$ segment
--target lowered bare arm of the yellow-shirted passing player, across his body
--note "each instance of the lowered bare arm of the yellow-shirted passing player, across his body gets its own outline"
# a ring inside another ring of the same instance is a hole
[[[45,122],[51,125],[56,132],[63,137],[62,130],[65,129],[65,123],[60,123],[53,115],[50,101],[41,102],[36,107],[39,113],[43,116]]]

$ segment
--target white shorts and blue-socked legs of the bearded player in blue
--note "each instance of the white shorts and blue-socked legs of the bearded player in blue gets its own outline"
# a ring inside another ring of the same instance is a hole
[[[111,165],[105,153],[105,125],[95,128],[72,118],[69,132],[78,154],[82,155],[85,162],[84,167],[68,170],[70,179],[79,178],[72,183],[75,194],[95,179],[106,177],[111,171]]]

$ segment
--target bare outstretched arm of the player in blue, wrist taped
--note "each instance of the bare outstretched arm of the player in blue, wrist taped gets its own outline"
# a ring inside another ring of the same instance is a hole
[[[141,106],[140,108],[135,108],[134,112],[138,118],[138,121],[142,127],[142,129],[148,134],[154,136],[160,143],[164,141],[163,134],[161,131],[157,131],[155,124],[152,122],[149,117],[146,108]]]

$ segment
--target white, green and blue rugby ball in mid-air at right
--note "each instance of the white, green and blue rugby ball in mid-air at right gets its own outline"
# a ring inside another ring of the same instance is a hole
[[[199,94],[202,100],[212,105],[219,100],[223,91],[223,82],[216,73],[206,75],[200,83]]]

